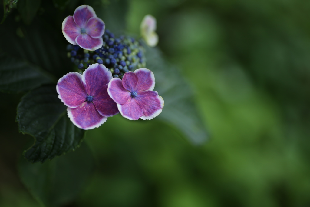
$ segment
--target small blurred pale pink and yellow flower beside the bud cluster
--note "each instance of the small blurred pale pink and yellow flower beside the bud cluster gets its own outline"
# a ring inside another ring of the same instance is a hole
[[[155,32],[156,30],[156,19],[152,15],[144,16],[141,25],[140,32],[145,42],[150,47],[155,47],[158,43],[158,35]]]

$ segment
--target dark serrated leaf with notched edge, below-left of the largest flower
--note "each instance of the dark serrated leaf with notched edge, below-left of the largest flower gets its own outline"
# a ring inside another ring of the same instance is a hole
[[[24,152],[31,162],[75,150],[84,137],[85,131],[70,121],[57,96],[55,85],[43,86],[27,93],[17,107],[20,132],[35,137],[34,145]]]

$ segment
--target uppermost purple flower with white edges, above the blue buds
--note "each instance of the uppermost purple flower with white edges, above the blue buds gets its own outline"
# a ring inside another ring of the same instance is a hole
[[[102,47],[104,29],[104,22],[88,5],[79,6],[73,16],[67,16],[62,22],[62,33],[68,42],[91,51]]]

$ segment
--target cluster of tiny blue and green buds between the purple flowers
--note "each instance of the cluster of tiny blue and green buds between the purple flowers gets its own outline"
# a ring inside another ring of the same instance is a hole
[[[82,73],[89,65],[99,63],[105,65],[113,77],[122,79],[124,73],[145,67],[144,48],[134,38],[115,38],[107,29],[102,38],[103,46],[95,51],[83,50],[78,45],[67,45],[67,55],[78,66],[78,72]]]

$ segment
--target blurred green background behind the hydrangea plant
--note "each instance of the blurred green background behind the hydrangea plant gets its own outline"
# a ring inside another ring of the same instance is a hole
[[[132,0],[129,34],[146,14],[210,139],[193,146],[158,119],[109,118],[85,139],[94,174],[63,206],[310,206],[310,1]],[[16,167],[33,140],[15,123],[21,96],[1,95],[0,206],[39,206]]]

